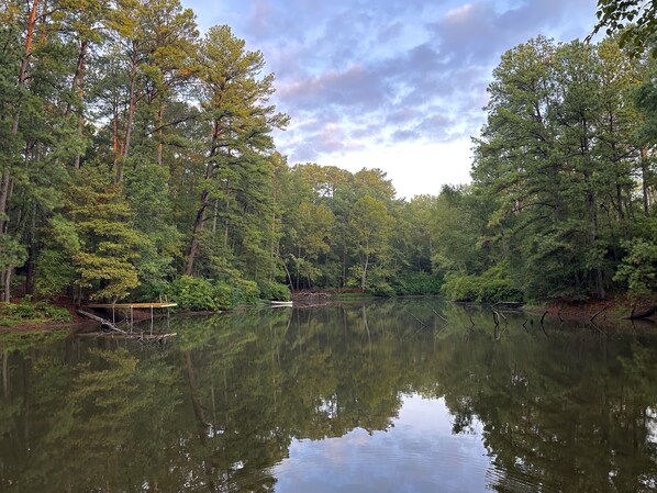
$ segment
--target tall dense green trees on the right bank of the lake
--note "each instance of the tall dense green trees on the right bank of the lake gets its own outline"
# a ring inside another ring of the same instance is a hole
[[[438,198],[450,298],[657,293],[656,80],[611,38],[503,55],[472,184]]]

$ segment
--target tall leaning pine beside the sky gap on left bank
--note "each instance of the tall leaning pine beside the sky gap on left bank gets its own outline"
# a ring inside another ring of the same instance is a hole
[[[209,123],[210,139],[200,203],[186,254],[187,274],[194,271],[201,233],[212,203],[218,206],[225,204],[226,244],[231,206],[237,203],[242,205],[242,212],[249,212],[248,209],[254,206],[258,212],[261,211],[257,194],[263,189],[257,182],[245,181],[244,178],[257,178],[263,169],[272,172],[266,159],[266,153],[272,149],[270,132],[287,123],[287,116],[276,113],[275,107],[268,103],[274,92],[274,76],[261,75],[265,64],[263,54],[246,52],[245,42],[236,38],[229,26],[211,27],[201,43],[199,55],[199,65],[202,67],[199,75],[202,83],[201,105],[203,119]],[[261,201],[267,200],[266,193],[261,197]],[[241,198],[249,200],[245,203]],[[266,254],[267,250],[261,251]]]

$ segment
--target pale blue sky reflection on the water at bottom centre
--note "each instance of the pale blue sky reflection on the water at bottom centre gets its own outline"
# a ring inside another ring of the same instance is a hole
[[[293,440],[274,468],[278,493],[485,492],[490,461],[475,434],[453,435],[441,400],[404,397],[399,418],[372,436],[357,428],[341,438]]]

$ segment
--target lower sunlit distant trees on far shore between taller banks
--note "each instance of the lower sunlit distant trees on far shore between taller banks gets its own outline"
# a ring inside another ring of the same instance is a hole
[[[282,211],[277,255],[293,288],[391,294],[405,292],[404,272],[431,273],[428,223],[417,223],[410,204],[394,199],[380,170],[350,173],[307,164],[289,170],[286,180],[296,193]],[[413,211],[420,211],[416,203]],[[411,234],[427,248],[413,250]]]

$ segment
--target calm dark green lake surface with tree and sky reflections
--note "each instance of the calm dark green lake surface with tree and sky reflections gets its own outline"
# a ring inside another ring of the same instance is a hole
[[[164,344],[0,335],[0,492],[655,491],[657,328],[506,318],[398,300],[159,321]]]

